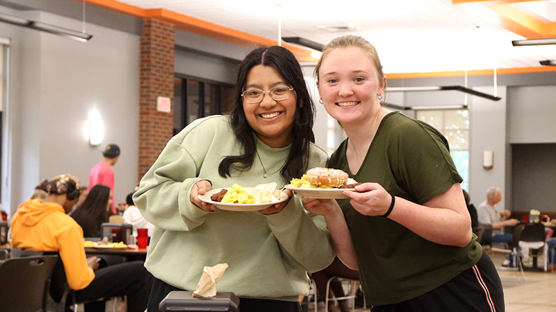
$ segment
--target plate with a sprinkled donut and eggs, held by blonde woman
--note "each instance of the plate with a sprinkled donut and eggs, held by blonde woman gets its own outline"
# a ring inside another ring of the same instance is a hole
[[[311,168],[300,179],[292,179],[286,189],[307,198],[348,198],[344,191],[355,191],[361,183],[350,179],[344,171],[331,168]]]

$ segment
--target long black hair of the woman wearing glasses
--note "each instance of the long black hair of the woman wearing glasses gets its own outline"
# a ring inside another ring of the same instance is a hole
[[[243,93],[247,75],[256,65],[270,66],[286,83],[291,85],[297,95],[295,119],[291,129],[292,145],[288,159],[280,170],[285,181],[293,177],[301,177],[309,166],[309,148],[315,141],[313,135],[313,121],[315,105],[309,96],[309,91],[303,78],[300,63],[293,53],[281,46],[270,46],[251,51],[241,62],[236,81],[236,101],[230,113],[231,128],[236,139],[240,142],[242,152],[240,155],[224,157],[218,166],[221,177],[230,176],[231,168],[243,171],[251,168],[255,159],[256,141],[243,111]]]

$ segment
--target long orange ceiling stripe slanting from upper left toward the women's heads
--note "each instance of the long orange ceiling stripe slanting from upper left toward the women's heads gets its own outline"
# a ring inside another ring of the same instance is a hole
[[[83,0],[74,1],[81,2]],[[160,19],[174,24],[177,28],[183,31],[197,33],[199,35],[204,35],[216,40],[230,42],[241,46],[255,47],[278,44],[278,42],[265,37],[251,35],[249,33],[244,33],[243,31],[236,31],[232,28],[227,28],[208,21],[203,21],[202,19],[196,19],[195,17],[189,17],[187,15],[161,8],[143,9],[115,0],[87,0],[87,3],[135,17]],[[291,46],[289,44],[282,44],[282,46],[290,50],[300,62],[316,62],[316,58],[311,56],[311,51],[298,48],[297,46]]]

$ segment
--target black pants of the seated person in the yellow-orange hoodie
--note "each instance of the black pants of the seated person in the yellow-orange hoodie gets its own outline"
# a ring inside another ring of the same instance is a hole
[[[133,261],[108,266],[95,271],[95,279],[75,292],[76,302],[85,303],[85,312],[104,312],[106,302],[99,298],[127,296],[127,312],[147,309],[149,291],[154,277],[143,261]]]

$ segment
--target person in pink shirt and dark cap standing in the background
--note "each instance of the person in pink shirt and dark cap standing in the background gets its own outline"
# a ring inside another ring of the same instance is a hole
[[[108,144],[104,149],[104,152],[102,152],[102,155],[104,156],[104,160],[92,167],[91,172],[89,173],[88,191],[90,191],[92,187],[97,184],[110,187],[112,190],[112,212],[113,214],[117,214],[114,200],[114,170],[112,169],[112,166],[114,166],[117,159],[120,158],[120,146],[117,146],[116,144]]]

